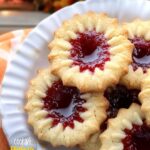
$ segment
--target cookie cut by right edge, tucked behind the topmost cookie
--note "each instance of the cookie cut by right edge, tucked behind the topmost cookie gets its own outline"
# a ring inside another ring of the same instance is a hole
[[[140,89],[141,81],[150,68],[150,21],[135,20],[123,27],[128,31],[128,38],[134,48],[128,74],[121,78],[121,82],[129,88]]]

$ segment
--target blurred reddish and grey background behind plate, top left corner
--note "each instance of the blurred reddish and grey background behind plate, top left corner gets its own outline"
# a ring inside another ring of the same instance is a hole
[[[0,34],[33,28],[50,13],[79,0],[0,0]]]

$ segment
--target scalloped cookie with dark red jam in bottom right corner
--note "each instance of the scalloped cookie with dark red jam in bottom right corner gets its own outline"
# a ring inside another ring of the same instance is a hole
[[[149,150],[150,126],[138,104],[120,109],[116,118],[108,121],[108,128],[100,135],[101,150]]]

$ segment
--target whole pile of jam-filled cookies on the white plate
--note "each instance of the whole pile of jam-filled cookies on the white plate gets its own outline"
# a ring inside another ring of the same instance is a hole
[[[149,150],[150,21],[87,12],[48,45],[50,67],[27,92],[28,123],[54,147]]]

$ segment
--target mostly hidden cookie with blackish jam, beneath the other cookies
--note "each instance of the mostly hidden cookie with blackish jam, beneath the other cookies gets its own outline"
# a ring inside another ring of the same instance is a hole
[[[80,145],[82,150],[100,150],[101,142],[99,136],[107,129],[107,122],[110,118],[115,118],[119,109],[129,108],[134,102],[140,104],[138,95],[140,90],[128,89],[124,85],[117,84],[113,87],[107,88],[103,93],[103,98],[109,103],[107,109],[107,118],[100,125],[99,132],[90,136],[90,138]]]

